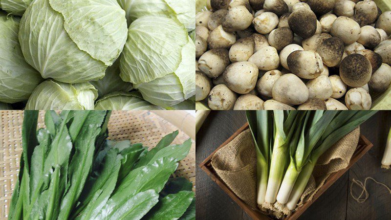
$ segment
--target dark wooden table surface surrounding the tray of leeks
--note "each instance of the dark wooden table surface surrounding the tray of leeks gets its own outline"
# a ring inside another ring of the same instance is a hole
[[[244,111],[212,111],[197,133],[197,220],[251,219],[198,167],[245,122]],[[368,180],[369,198],[364,203],[350,196],[353,178],[364,182],[370,176],[391,187],[391,170],[380,168],[390,126],[391,111],[380,111],[361,125],[361,133],[373,143],[373,148],[304,212],[302,220],[391,220],[391,194],[383,186]]]

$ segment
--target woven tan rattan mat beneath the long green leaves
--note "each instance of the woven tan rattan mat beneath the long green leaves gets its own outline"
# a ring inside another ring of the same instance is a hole
[[[174,113],[174,111],[173,111]],[[44,111],[40,111],[38,126],[43,127]],[[23,111],[0,111],[0,220],[7,219],[8,206],[19,172],[22,154]],[[194,125],[192,125],[194,126]],[[113,111],[109,120],[109,139],[130,140],[153,147],[166,134],[177,128],[150,111]],[[187,140],[189,136],[179,131],[174,144]],[[179,162],[174,176],[184,176],[195,186],[195,142],[189,155]],[[195,188],[193,188],[195,191]]]

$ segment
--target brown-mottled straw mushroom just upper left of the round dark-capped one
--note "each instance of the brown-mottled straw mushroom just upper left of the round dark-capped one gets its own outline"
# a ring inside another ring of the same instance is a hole
[[[326,66],[337,66],[344,55],[344,42],[336,37],[326,39],[319,45],[317,52],[322,57],[322,61]]]

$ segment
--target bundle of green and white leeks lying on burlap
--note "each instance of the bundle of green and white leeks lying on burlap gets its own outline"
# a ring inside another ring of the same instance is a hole
[[[257,152],[258,206],[289,214],[318,158],[376,111],[247,111]],[[274,121],[274,125],[272,122]]]

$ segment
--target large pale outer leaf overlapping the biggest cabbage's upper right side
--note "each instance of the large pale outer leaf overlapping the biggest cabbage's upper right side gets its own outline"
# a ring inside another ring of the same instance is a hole
[[[64,17],[64,28],[77,46],[111,66],[126,42],[125,11],[116,0],[50,0]]]

